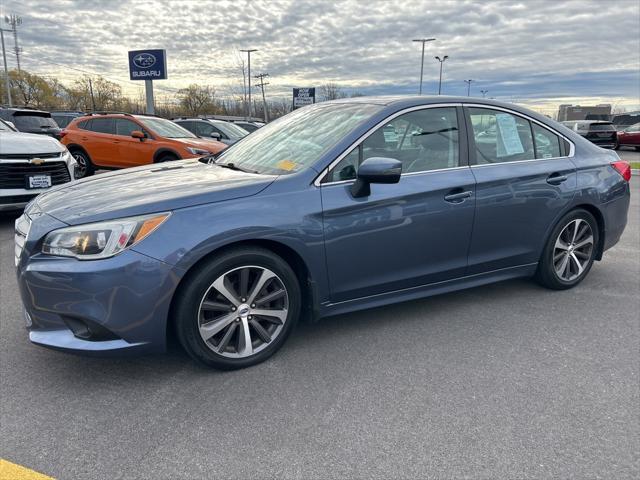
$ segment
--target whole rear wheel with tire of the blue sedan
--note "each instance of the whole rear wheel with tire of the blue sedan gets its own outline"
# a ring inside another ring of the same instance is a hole
[[[538,282],[553,290],[575,287],[591,270],[599,238],[598,222],[588,211],[578,209],[562,217],[542,252]]]

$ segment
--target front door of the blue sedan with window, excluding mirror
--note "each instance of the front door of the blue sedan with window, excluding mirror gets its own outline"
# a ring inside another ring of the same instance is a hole
[[[321,183],[331,301],[463,276],[475,207],[462,112],[426,107],[385,122]],[[401,160],[397,184],[350,187],[366,158]]]

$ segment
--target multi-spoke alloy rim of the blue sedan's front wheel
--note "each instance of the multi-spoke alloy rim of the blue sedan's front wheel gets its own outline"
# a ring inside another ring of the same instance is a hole
[[[289,296],[278,275],[249,265],[229,270],[207,289],[198,310],[198,330],[209,349],[245,358],[267,348],[287,321]]]

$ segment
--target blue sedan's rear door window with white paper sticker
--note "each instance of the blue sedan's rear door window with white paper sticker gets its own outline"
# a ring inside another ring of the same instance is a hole
[[[488,108],[469,108],[468,111],[478,165],[535,158],[528,120]]]

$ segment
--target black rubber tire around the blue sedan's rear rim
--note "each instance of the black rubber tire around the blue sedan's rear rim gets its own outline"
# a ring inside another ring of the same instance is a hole
[[[581,219],[586,221],[591,227],[591,231],[593,232],[593,249],[591,252],[591,258],[589,263],[585,267],[584,271],[575,279],[571,281],[566,281],[561,279],[555,271],[553,267],[553,250],[555,247],[556,240],[560,232],[573,220]],[[558,221],[556,226],[554,227],[547,243],[545,245],[544,251],[542,253],[542,258],[540,260],[540,264],[538,267],[538,280],[546,287],[552,288],[555,290],[565,290],[568,288],[575,287],[578,285],[584,278],[589,274],[591,267],[593,266],[593,262],[595,261],[596,251],[600,241],[600,230],[598,228],[598,222],[595,217],[588,211],[583,209],[573,210],[567,213],[564,217]]]

